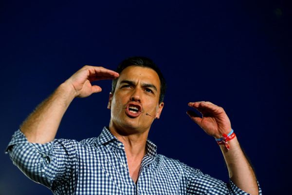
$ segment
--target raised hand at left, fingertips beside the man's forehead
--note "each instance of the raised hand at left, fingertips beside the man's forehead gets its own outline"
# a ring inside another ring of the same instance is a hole
[[[114,79],[117,77],[119,77],[119,74],[112,70],[104,67],[86,65],[65,82],[74,88],[76,92],[75,97],[85,98],[93,93],[101,92],[100,86],[91,85],[92,81]]]

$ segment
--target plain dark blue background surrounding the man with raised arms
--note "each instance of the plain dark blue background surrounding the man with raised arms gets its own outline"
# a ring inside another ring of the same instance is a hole
[[[289,189],[291,20],[288,0],[0,1],[0,195],[50,195],[4,155],[18,125],[85,64],[115,69],[152,58],[168,90],[149,138],[158,153],[228,181],[221,152],[185,114],[187,102],[222,106],[264,194]],[[77,98],[56,138],[96,137],[108,125],[110,81]]]

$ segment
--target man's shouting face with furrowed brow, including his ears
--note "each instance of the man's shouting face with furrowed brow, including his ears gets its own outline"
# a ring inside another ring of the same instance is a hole
[[[128,133],[149,130],[154,118],[146,113],[160,117],[164,103],[159,103],[159,96],[160,79],[154,70],[128,66],[121,72],[114,94],[110,94],[111,124]]]

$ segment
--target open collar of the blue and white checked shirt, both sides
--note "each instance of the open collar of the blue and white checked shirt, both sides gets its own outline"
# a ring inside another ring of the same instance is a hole
[[[116,149],[124,149],[124,144],[119,141],[116,137],[114,137],[109,129],[107,127],[104,127],[101,134],[97,137],[96,144],[99,145],[105,145],[105,144],[110,144],[110,146],[116,148]],[[157,146],[147,139],[146,141],[146,152],[147,155],[151,157],[155,157],[157,155]]]

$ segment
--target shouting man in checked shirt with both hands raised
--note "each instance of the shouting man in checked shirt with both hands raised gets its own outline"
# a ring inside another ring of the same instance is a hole
[[[55,139],[73,98],[101,92],[99,86],[91,85],[101,79],[113,79],[109,127],[99,137],[81,142]],[[156,146],[147,136],[153,120],[162,113],[164,93],[164,78],[150,59],[126,59],[117,72],[84,66],[23,122],[7,151],[24,174],[55,195],[261,194],[253,169],[231,132],[229,118],[211,102],[188,104],[202,117],[191,111],[187,114],[218,139],[230,184],[156,154]]]

